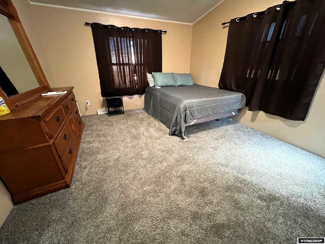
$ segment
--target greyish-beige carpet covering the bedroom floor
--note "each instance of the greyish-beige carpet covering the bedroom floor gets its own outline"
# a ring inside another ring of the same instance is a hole
[[[0,243],[297,243],[325,236],[325,159],[220,119],[188,141],[142,110],[84,116],[72,187],[16,205]]]

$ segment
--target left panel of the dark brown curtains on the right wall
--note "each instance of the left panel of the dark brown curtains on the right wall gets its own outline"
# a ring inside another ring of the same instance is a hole
[[[249,14],[246,20],[232,19],[229,26],[219,88],[243,93],[246,105],[250,104],[261,72],[267,69],[265,60],[272,54],[270,42],[279,16],[276,7],[266,13]]]

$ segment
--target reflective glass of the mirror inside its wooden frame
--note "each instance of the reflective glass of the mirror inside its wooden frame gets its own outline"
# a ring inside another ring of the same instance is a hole
[[[7,97],[39,87],[6,16],[0,15],[0,86]]]

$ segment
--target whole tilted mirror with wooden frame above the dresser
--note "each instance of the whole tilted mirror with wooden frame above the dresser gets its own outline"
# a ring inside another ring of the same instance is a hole
[[[50,88],[11,0],[0,0],[0,97],[14,110]]]

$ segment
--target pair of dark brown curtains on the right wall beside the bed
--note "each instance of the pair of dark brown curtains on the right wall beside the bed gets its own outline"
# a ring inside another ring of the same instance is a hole
[[[325,1],[277,7],[231,21],[219,87],[244,93],[251,111],[304,120],[325,68]]]

